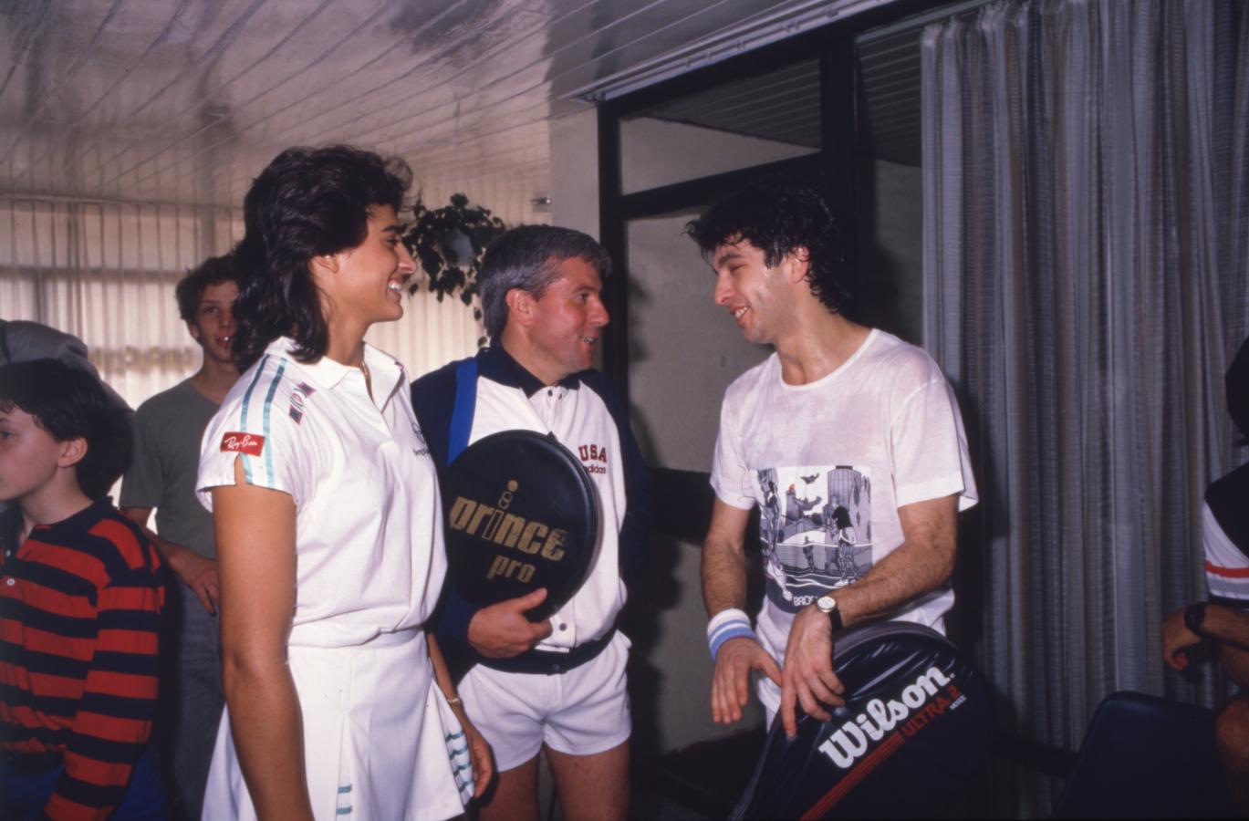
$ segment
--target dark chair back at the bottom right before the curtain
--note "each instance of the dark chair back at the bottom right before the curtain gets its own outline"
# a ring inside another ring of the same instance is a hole
[[[1115,692],[1089,722],[1055,819],[1232,817],[1214,712]]]

